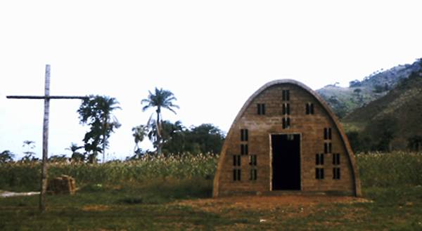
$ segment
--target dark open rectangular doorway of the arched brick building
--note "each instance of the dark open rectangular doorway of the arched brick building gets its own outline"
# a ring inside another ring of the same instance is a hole
[[[300,135],[271,135],[272,190],[300,190]]]

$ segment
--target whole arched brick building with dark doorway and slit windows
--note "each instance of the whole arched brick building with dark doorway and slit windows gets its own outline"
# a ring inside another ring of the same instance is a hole
[[[338,119],[304,84],[281,79],[256,91],[226,136],[213,196],[330,192],[361,196],[354,154]]]

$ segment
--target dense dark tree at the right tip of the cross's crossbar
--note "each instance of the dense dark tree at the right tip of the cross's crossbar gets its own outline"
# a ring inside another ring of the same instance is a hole
[[[96,160],[98,152],[103,153],[103,162],[106,159],[106,148],[108,147],[108,138],[114,132],[115,128],[119,128],[121,124],[112,112],[121,109],[117,106],[119,103],[115,98],[100,95],[90,95],[84,99],[82,105],[77,112],[81,124],[87,124],[90,127],[84,136],[85,150],[91,154],[89,159],[91,162]]]

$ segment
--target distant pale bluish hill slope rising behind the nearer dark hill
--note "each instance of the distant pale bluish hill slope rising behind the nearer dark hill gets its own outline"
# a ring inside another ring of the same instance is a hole
[[[343,118],[353,110],[383,97],[412,72],[421,70],[421,59],[413,64],[399,65],[389,70],[373,72],[362,81],[350,81],[349,87],[327,85],[316,90],[331,106],[335,114]]]

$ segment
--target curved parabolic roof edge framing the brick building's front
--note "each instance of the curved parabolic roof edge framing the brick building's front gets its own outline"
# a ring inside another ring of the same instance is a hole
[[[260,93],[264,92],[265,90],[267,90],[271,86],[276,86],[276,85],[280,85],[280,84],[292,84],[292,85],[295,85],[295,86],[299,86],[300,88],[303,88],[305,91],[310,93],[319,102],[319,104],[324,108],[324,110],[327,112],[328,116],[334,122],[338,132],[340,133],[340,138],[343,140],[343,143],[345,144],[346,151],[347,151],[347,157],[350,161],[350,164],[352,165],[352,174],[353,174],[352,178],[354,180],[354,193],[357,197],[362,196],[357,164],[356,164],[356,161],[354,159],[354,156],[353,156],[354,154],[353,154],[352,148],[350,147],[350,143],[349,143],[349,140],[347,139],[347,136],[345,134],[343,126],[340,124],[340,121],[338,121],[337,117],[335,117],[335,114],[333,113],[333,111],[331,111],[331,108],[328,107],[325,100],[322,99],[321,96],[319,96],[311,88],[309,88],[305,84],[302,84],[300,81],[296,81],[294,79],[276,79],[274,81],[268,82],[267,84],[264,84],[264,86],[262,86],[257,91],[255,91],[255,93],[250,95],[248,100],[246,100],[245,104],[241,108],[241,111],[238,112],[236,118],[234,119],[233,123],[231,124],[229,133],[227,133],[226,140],[230,140],[232,134],[234,133],[235,124],[237,124],[239,119],[241,119],[241,117],[243,116],[243,114],[245,113],[245,111],[247,110],[249,105],[252,103],[252,101],[255,100],[255,98],[257,98],[257,96],[260,95]],[[222,152],[221,152],[222,154],[226,153],[226,149],[227,149],[226,140],[224,141],[224,145],[222,147]],[[215,178],[215,181],[214,181],[214,187],[217,187],[217,188],[218,188],[218,184],[219,184],[218,183],[219,173],[222,169],[222,164],[223,164],[222,161],[223,161],[224,157],[221,156],[219,158],[220,159],[219,159],[219,163],[218,163],[218,166],[217,166],[217,172],[216,172],[217,177]],[[213,194],[215,196],[217,196],[218,192],[213,192]]]

